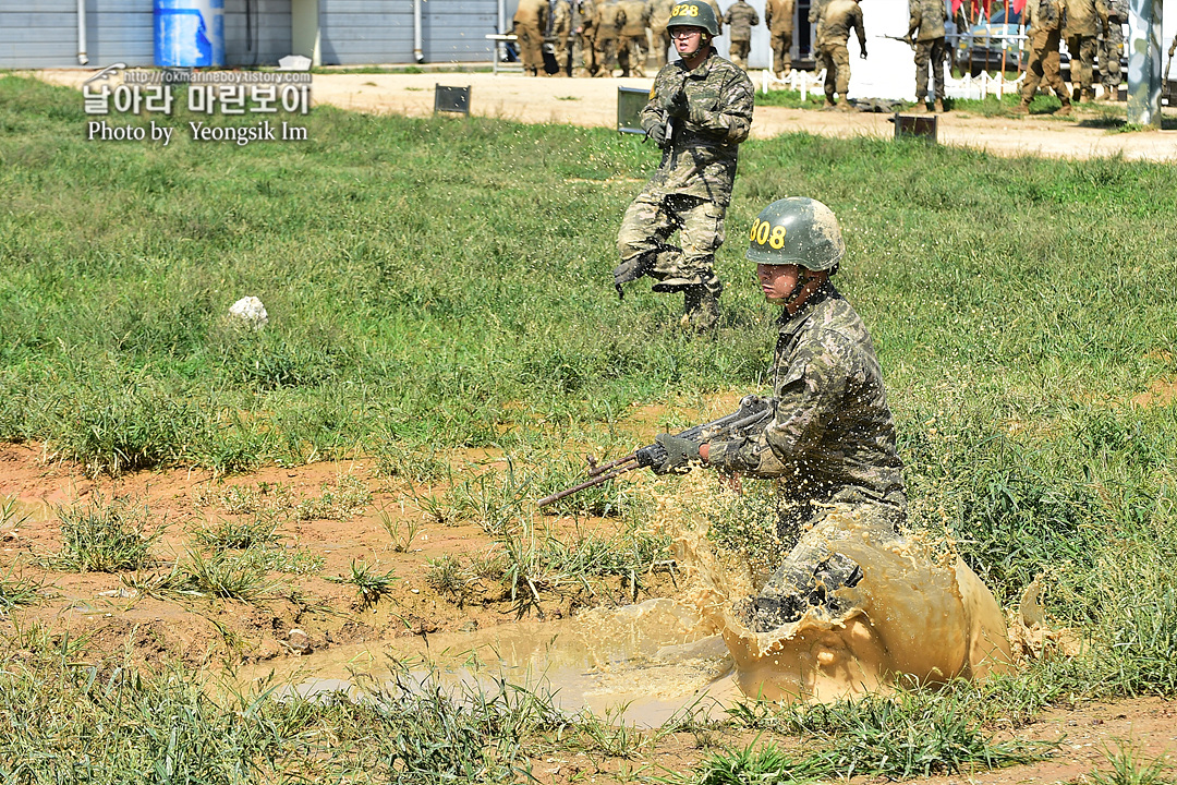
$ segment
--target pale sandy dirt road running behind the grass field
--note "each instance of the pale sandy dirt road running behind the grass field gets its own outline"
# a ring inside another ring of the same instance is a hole
[[[52,69],[34,72],[46,81],[72,87],[93,72]],[[759,74],[753,74],[759,86]],[[435,85],[471,88],[473,114],[524,122],[568,122],[617,126],[617,88],[649,89],[651,79],[533,79],[517,73],[314,74],[312,98],[358,112],[388,112],[424,117],[433,112]],[[759,89],[759,87],[758,87]],[[1126,105],[1121,104],[1121,107]],[[1173,115],[1165,108],[1166,126]],[[939,117],[938,140],[945,145],[983,149],[997,155],[1091,158],[1123,155],[1126,160],[1177,159],[1177,129],[1121,133],[1093,121],[1103,117],[1082,106],[1071,118],[1031,115],[983,118],[966,112]],[[807,132],[829,137],[892,138],[891,115],[865,112],[820,112],[776,106],[756,108],[754,138]]]

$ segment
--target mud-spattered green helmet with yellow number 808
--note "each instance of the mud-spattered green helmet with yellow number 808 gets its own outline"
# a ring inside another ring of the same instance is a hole
[[[845,253],[833,211],[817,199],[789,197],[757,215],[745,258],[758,265],[798,265],[833,274]]]

